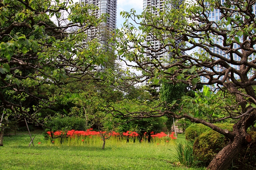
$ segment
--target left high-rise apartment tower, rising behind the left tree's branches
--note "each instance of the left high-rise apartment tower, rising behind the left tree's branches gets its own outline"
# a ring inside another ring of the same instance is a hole
[[[80,0],[82,5],[92,4],[98,7],[96,10],[96,16],[100,17],[102,14],[107,14],[106,22],[103,22],[97,28],[92,27],[87,30],[88,40],[95,36],[101,41],[102,47],[106,50],[112,50],[108,46],[106,40],[112,35],[112,32],[116,29],[116,3],[117,0]],[[95,65],[94,70],[103,70],[101,65]]]

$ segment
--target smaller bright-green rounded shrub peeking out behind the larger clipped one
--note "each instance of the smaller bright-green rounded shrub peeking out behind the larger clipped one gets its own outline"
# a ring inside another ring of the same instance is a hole
[[[185,130],[186,140],[195,140],[200,134],[202,134],[206,130],[210,130],[210,128],[206,127],[201,123],[192,124]]]

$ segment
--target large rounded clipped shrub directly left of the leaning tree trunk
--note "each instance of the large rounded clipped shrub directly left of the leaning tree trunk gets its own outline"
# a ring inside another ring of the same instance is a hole
[[[214,156],[229,142],[224,135],[208,130],[196,138],[193,146],[194,159],[202,166],[208,166]]]

